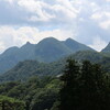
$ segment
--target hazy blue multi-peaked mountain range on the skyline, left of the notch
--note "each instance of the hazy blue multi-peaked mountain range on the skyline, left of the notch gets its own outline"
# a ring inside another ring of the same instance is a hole
[[[64,56],[76,53],[77,51],[94,51],[92,48],[80,44],[72,38],[58,41],[54,37],[47,37],[38,44],[28,42],[22,47],[10,47],[0,55],[0,73],[4,73],[14,67],[19,62],[25,59],[37,59],[38,62],[54,62]]]

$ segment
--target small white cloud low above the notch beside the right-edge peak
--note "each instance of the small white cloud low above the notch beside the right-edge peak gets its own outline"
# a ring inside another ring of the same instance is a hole
[[[102,48],[107,46],[107,42],[105,42],[100,36],[96,36],[92,41],[92,44],[89,46],[100,52]]]

